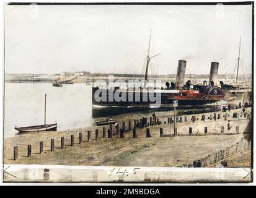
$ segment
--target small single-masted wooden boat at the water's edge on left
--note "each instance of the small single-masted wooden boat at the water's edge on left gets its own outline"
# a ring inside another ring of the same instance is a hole
[[[25,126],[25,127],[14,127],[20,133],[27,132],[40,132],[40,131],[57,131],[57,123],[55,124],[46,124],[46,94],[45,94],[45,124],[36,125],[36,126]]]

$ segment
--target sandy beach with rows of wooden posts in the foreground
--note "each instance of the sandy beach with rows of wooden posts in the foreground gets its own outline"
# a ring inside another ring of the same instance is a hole
[[[250,108],[247,109],[250,112]],[[234,112],[239,118],[232,118]],[[24,134],[4,139],[4,164],[45,164],[45,165],[94,165],[94,166],[183,166],[193,160],[205,157],[219,149],[239,142],[245,134],[250,132],[250,120],[240,117],[241,109],[221,113],[221,119],[208,119],[213,113],[205,113],[206,120],[201,121],[202,114],[196,114],[198,121],[191,121],[188,115],[187,123],[177,123],[177,137],[160,137],[159,129],[164,134],[174,134],[174,124],[163,124],[173,111],[157,113],[161,125],[150,126],[151,137],[146,138],[146,129],[137,129],[138,138],[133,138],[133,132],[126,132],[125,138],[119,135],[112,139],[102,138],[102,126],[93,126],[69,131],[43,132],[40,134]],[[227,121],[223,115],[229,113],[231,130],[227,131]],[[140,114],[136,115],[138,118]],[[126,116],[118,116],[118,121],[131,120]],[[148,119],[149,120],[149,119]],[[184,120],[184,119],[183,119]],[[121,123],[119,124],[121,126]],[[224,126],[224,133],[221,133]],[[236,134],[239,126],[239,134]],[[188,128],[193,127],[192,136],[188,135]],[[208,133],[204,134],[204,128]],[[106,126],[108,128],[108,126]],[[95,140],[95,129],[99,129],[100,139]],[[91,131],[91,139],[87,142],[87,131]],[[79,144],[79,132],[82,132],[82,144]],[[113,129],[115,133],[115,129]],[[228,134],[228,135],[227,135]],[[74,145],[70,145],[70,136],[74,135]],[[201,136],[199,136],[201,135]],[[247,136],[247,135],[246,135]],[[64,137],[65,148],[61,149],[60,140]],[[55,150],[50,151],[50,140],[55,139]],[[39,142],[43,141],[43,153],[39,154]],[[27,145],[32,145],[32,157],[27,157]],[[19,158],[13,160],[13,148],[19,147]],[[248,157],[247,157],[248,158]],[[248,160],[247,160],[248,161]],[[248,165],[248,163],[245,163]],[[234,166],[236,163],[233,164]]]

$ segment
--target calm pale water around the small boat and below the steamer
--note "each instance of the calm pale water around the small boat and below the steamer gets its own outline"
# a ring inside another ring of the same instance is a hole
[[[115,116],[122,113],[151,113],[149,108],[94,108],[92,110],[92,85],[73,84],[53,87],[51,83],[6,83],[4,100],[4,137],[17,134],[14,126],[44,124],[46,100],[46,124],[58,123],[58,131],[91,126],[94,118]],[[214,111],[209,106],[179,106],[177,115]],[[161,108],[157,111],[170,111]]]

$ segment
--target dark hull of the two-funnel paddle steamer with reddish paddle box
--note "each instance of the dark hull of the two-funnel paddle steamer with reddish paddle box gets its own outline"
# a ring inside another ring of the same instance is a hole
[[[205,105],[224,100],[224,93],[219,87],[206,86],[203,92],[193,90],[151,90],[146,92],[104,90],[92,88],[92,105],[94,106],[170,106],[174,100],[180,105]],[[116,100],[117,95],[123,94],[122,100]],[[151,98],[150,95],[151,94]],[[157,98],[159,94],[159,98]],[[152,97],[153,96],[153,97]],[[115,100],[113,100],[115,98]],[[152,100],[154,98],[155,100]]]

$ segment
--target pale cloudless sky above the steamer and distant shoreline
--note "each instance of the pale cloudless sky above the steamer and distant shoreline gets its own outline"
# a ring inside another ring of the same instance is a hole
[[[6,73],[64,71],[175,74],[251,73],[252,6],[84,5],[5,6]]]

